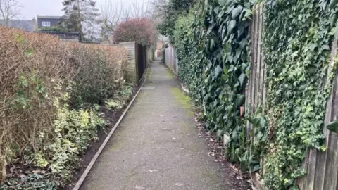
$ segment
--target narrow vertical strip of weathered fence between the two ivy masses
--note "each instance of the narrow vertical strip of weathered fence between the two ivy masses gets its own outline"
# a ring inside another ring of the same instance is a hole
[[[262,112],[262,108],[266,99],[265,85],[265,65],[263,56],[263,8],[264,4],[256,4],[252,7],[251,23],[250,23],[250,74],[246,82],[245,88],[245,115],[255,115]],[[253,183],[262,189],[258,177],[258,172],[263,175],[263,158],[261,156],[261,146],[266,139],[266,121],[259,115],[253,118],[261,125],[253,125],[251,120],[246,121],[246,139],[250,140],[249,147],[253,150],[258,150],[258,153],[249,153],[253,155],[252,159],[255,163],[251,170],[251,179]],[[251,121],[251,122],[250,122]],[[257,123],[256,122],[256,123]],[[263,141],[262,141],[263,140]],[[258,169],[259,168],[259,169]]]

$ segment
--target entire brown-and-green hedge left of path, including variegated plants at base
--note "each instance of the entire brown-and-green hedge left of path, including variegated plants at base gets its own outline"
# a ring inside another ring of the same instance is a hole
[[[0,34],[2,188],[63,186],[105,125],[96,103],[124,88],[127,52],[6,27]]]

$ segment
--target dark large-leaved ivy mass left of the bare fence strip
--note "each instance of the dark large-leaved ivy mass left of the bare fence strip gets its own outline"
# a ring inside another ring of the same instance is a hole
[[[180,78],[204,111],[206,127],[232,137],[230,157],[243,167],[249,165],[239,107],[249,74],[250,8],[245,1],[206,1],[183,15],[174,32]]]

